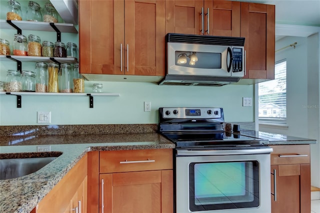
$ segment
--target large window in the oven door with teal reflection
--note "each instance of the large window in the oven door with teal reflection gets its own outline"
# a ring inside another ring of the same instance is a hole
[[[257,207],[257,161],[189,164],[191,211]]]

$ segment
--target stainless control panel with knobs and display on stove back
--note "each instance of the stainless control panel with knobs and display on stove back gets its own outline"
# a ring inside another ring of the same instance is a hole
[[[163,107],[163,118],[184,118],[184,119],[205,119],[221,118],[222,108],[205,108],[205,107]]]

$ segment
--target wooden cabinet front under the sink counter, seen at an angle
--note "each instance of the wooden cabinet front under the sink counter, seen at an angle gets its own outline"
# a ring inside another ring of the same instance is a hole
[[[87,212],[87,154],[40,200],[34,213]]]

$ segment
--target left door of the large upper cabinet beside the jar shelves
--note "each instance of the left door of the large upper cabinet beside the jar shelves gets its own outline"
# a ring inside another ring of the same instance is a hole
[[[81,0],[78,4],[80,72],[114,74],[121,67],[123,0]]]

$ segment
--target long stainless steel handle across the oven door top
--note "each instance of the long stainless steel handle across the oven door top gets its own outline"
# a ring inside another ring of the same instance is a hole
[[[225,154],[269,154],[272,152],[271,147],[265,148],[252,148],[252,149],[208,149],[208,150],[190,150],[190,149],[176,149],[177,155],[225,155]]]

